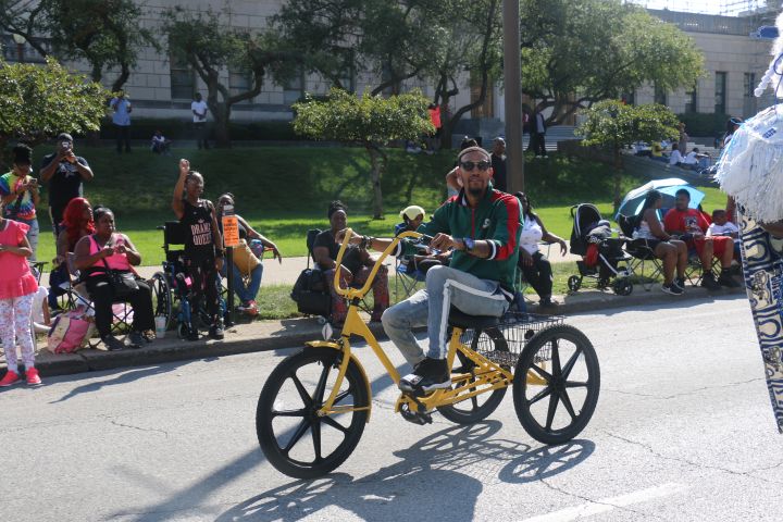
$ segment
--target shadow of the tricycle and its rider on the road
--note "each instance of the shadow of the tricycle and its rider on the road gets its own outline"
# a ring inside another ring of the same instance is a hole
[[[358,480],[335,473],[296,481],[249,498],[215,520],[294,521],[320,511],[320,517],[339,517],[349,511],[373,521],[424,517],[471,521],[485,484],[545,480],[580,464],[595,449],[589,440],[534,448],[496,438],[501,426],[498,421],[449,426],[411,448],[396,451],[394,455],[401,460],[375,473]],[[435,497],[439,499],[433,504]],[[435,505],[436,510],[423,514],[427,506]]]

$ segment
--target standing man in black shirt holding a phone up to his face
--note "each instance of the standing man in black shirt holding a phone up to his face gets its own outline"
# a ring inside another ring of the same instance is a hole
[[[54,240],[60,236],[63,211],[74,198],[83,196],[83,182],[91,181],[95,175],[87,160],[74,154],[74,141],[70,134],[58,136],[57,152],[41,161],[41,182],[49,184],[49,214],[52,220]]]

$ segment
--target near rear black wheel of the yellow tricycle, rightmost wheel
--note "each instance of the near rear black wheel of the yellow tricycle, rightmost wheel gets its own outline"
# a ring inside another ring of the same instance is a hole
[[[549,326],[527,341],[517,364],[517,417],[536,440],[567,443],[589,422],[599,388],[598,356],[587,337],[573,326]]]

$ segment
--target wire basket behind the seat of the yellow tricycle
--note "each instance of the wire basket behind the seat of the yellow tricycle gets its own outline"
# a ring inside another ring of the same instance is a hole
[[[500,318],[497,327],[478,331],[467,330],[460,341],[473,351],[481,353],[493,362],[505,366],[515,366],[522,349],[527,341],[542,330],[562,324],[563,315],[539,315],[535,313],[508,311]],[[549,349],[542,349],[536,359],[549,360]]]

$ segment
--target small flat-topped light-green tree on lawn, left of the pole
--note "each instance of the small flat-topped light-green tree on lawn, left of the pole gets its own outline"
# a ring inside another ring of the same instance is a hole
[[[368,151],[372,165],[373,217],[382,220],[381,177],[387,164],[384,147],[432,133],[426,108],[427,99],[421,92],[387,99],[364,94],[359,98],[333,88],[325,101],[309,99],[294,104],[294,129],[314,139],[340,141]]]

